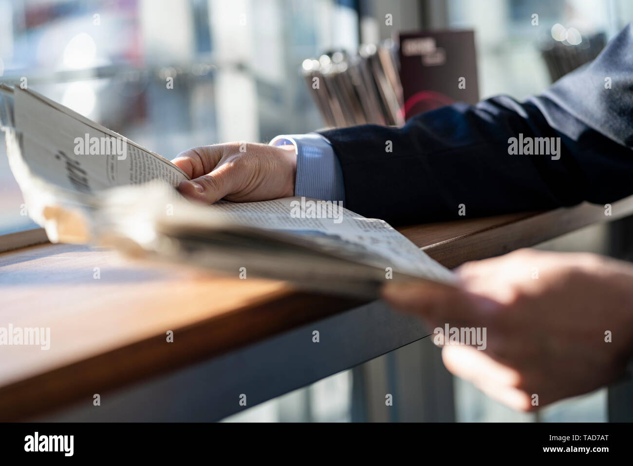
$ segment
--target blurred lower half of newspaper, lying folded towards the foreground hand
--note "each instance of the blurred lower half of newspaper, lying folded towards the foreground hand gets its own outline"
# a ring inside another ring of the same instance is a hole
[[[252,274],[365,297],[375,296],[387,279],[453,281],[448,269],[386,222],[323,200],[201,206],[163,183],[149,183],[108,191],[98,212],[93,228],[108,245],[242,278]]]

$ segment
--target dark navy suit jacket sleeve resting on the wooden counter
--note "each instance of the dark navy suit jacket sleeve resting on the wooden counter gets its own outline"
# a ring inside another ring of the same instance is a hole
[[[510,155],[508,139],[519,133],[560,138],[560,160]],[[522,103],[498,96],[401,128],[321,134],[341,162],[346,207],[392,224],[463,218],[460,204],[473,217],[613,202],[633,194],[631,25],[592,63]]]

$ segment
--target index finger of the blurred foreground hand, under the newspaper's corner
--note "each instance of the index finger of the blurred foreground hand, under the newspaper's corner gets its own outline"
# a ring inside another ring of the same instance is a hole
[[[482,319],[496,311],[498,303],[455,287],[431,282],[394,282],[386,285],[382,296],[402,311],[428,320],[452,325],[482,325]]]

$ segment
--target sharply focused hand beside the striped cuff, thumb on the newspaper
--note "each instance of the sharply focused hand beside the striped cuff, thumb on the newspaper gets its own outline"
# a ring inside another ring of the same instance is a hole
[[[194,147],[172,162],[188,174],[178,189],[192,200],[212,204],[294,196],[297,157],[294,146],[227,143]]]

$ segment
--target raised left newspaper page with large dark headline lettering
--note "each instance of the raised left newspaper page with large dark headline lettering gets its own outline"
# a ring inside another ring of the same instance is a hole
[[[169,160],[41,94],[2,86],[0,95],[9,166],[29,216],[53,242],[85,242],[84,233],[68,228],[76,224],[71,216],[103,190],[152,179],[177,186],[189,178]]]

